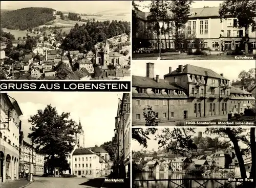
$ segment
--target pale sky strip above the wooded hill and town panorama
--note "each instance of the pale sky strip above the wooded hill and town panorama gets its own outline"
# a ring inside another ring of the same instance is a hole
[[[115,5],[115,6],[113,6]],[[106,10],[130,11],[130,1],[1,1],[1,9],[21,9],[27,7],[46,7],[57,11],[76,13],[97,13]]]

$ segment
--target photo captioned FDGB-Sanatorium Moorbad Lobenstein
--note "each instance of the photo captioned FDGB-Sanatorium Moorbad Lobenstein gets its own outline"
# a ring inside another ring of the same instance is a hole
[[[255,61],[134,60],[133,66],[133,126],[255,125]]]

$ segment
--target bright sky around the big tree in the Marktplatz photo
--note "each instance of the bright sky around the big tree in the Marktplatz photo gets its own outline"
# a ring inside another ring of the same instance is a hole
[[[79,123],[85,132],[86,147],[100,146],[104,142],[112,141],[117,115],[118,98],[122,93],[87,93],[87,92],[44,92],[44,93],[8,93],[17,100],[23,116],[22,129],[24,140],[27,138],[31,124],[30,116],[37,114],[37,110],[44,110],[47,104],[56,107],[58,114],[70,112],[70,118]]]

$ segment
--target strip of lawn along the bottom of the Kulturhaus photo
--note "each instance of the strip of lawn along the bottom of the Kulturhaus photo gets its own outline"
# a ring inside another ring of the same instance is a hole
[[[133,53],[133,60],[157,60],[159,53]],[[234,56],[227,56],[225,53],[217,55],[214,53],[209,56],[187,55],[186,53],[165,52],[161,53],[161,58],[166,60],[234,60]]]

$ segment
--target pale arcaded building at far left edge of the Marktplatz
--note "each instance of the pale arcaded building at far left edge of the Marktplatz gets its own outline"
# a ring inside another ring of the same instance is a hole
[[[0,175],[1,182],[18,179],[19,116],[23,115],[16,100],[7,93],[0,94]],[[9,115],[9,117],[8,117]]]

